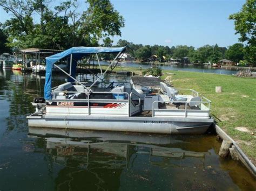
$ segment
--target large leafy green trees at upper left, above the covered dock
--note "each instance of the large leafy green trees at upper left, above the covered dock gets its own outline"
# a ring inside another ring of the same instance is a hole
[[[12,13],[5,22],[10,47],[70,48],[98,46],[98,40],[120,36],[124,18],[109,0],[88,0],[87,10],[77,12],[77,0],[67,0],[52,8],[46,0],[0,0]],[[40,22],[32,17],[38,13]]]

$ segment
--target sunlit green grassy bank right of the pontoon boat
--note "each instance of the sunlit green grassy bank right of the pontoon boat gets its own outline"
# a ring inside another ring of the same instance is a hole
[[[115,70],[142,73],[138,68],[117,67]],[[215,121],[237,141],[242,150],[256,164],[256,79],[171,70],[164,70],[163,73],[164,76],[161,79],[171,76],[174,87],[194,89],[201,96],[210,99],[211,114],[215,117]],[[222,86],[223,93],[215,93],[216,86]],[[246,128],[250,132],[235,129],[238,127]]]

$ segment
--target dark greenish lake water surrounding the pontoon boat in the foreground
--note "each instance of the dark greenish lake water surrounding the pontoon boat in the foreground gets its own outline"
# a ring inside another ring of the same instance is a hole
[[[53,76],[53,86],[64,81]],[[43,86],[44,77],[0,70],[1,191],[256,189],[239,162],[218,156],[214,135],[28,128]]]

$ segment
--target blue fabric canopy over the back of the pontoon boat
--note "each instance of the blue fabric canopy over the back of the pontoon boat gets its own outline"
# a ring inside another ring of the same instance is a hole
[[[52,67],[55,62],[63,58],[70,58],[72,54],[72,67],[70,74],[75,77],[77,60],[83,58],[83,56],[88,54],[96,53],[119,53],[124,52],[125,47],[72,47],[66,51],[54,54],[52,56],[46,57],[46,73],[45,73],[45,84],[44,84],[44,98],[45,100],[51,100],[51,73]],[[74,60],[73,60],[74,59]]]

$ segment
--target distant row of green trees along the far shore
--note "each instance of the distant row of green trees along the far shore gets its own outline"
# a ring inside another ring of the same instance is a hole
[[[179,45],[179,46],[159,46],[133,44],[126,40],[120,39],[117,46],[127,46],[127,53],[137,60],[148,61],[152,55],[157,56],[159,62],[165,62],[170,59],[177,59],[180,61],[186,60],[192,63],[217,63],[221,59],[228,59],[233,62],[244,60],[244,45],[236,43],[232,46],[219,47],[216,45],[205,45],[203,47],[194,48],[193,46]]]

